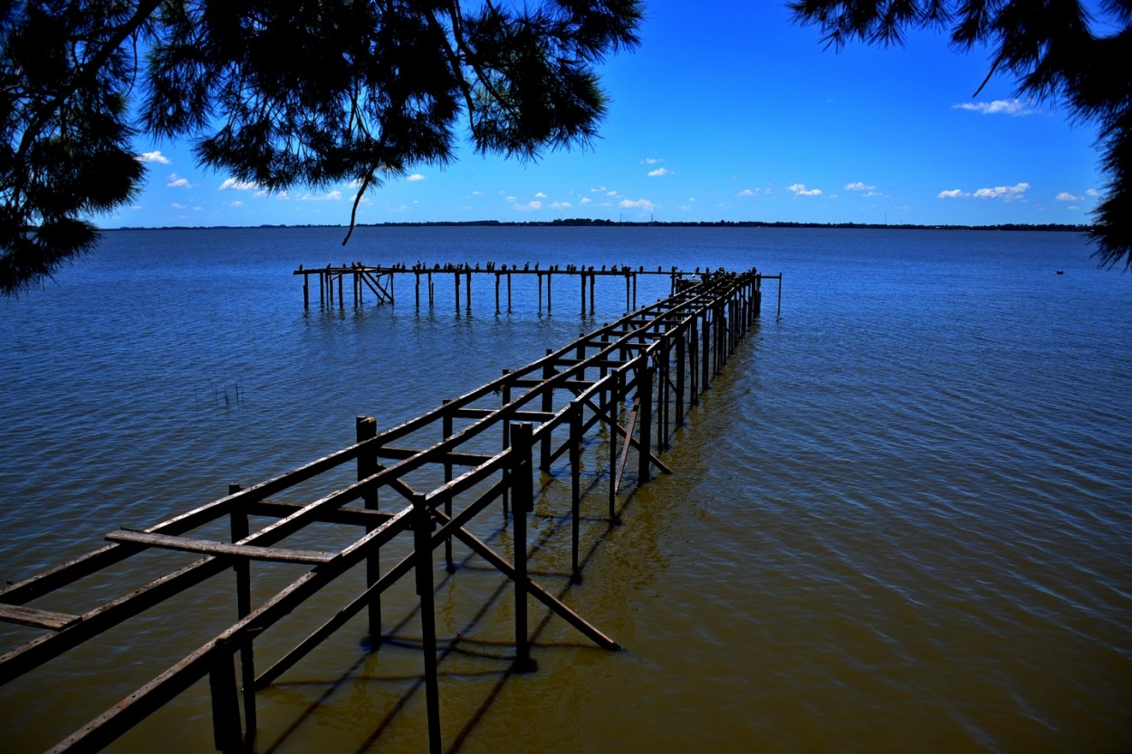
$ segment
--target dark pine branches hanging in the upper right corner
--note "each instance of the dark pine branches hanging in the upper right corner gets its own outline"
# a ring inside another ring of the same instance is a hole
[[[795,20],[816,24],[839,49],[858,40],[902,44],[909,28],[937,27],[960,51],[990,51],[987,78],[1006,74],[1020,96],[1064,102],[1099,126],[1108,174],[1096,212],[1095,256],[1132,266],[1132,0],[795,0]],[[1100,29],[1098,32],[1098,29]]]

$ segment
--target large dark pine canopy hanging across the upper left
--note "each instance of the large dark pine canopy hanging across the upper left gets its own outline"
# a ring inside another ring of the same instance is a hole
[[[594,72],[638,42],[638,0],[0,0],[0,291],[91,248],[126,203],[132,137],[268,190],[533,158],[591,139]],[[466,119],[466,121],[465,121]],[[466,123],[466,126],[465,126]],[[357,209],[357,202],[354,204]]]

